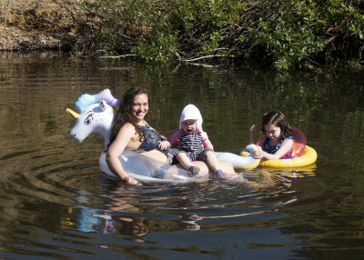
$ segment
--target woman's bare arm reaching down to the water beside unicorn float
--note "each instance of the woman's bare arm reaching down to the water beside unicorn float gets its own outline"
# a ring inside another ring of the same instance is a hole
[[[131,185],[137,185],[138,182],[126,174],[123,165],[120,163],[119,156],[124,152],[126,145],[129,143],[130,139],[135,135],[135,133],[135,127],[126,123],[120,128],[116,135],[116,139],[109,146],[106,152],[106,163],[110,171],[116,176],[119,176],[124,182],[127,182]]]

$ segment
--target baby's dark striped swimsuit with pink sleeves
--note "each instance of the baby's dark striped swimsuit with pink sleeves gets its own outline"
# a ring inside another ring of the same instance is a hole
[[[191,161],[206,161],[206,153],[212,151],[207,146],[212,146],[206,132],[197,130],[193,134],[186,134],[183,129],[178,130],[168,138],[171,146],[178,145]],[[177,156],[178,159],[178,156]]]

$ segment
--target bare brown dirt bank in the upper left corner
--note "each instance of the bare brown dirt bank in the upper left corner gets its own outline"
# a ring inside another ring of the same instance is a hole
[[[0,50],[66,49],[75,31],[54,0],[0,0]]]

